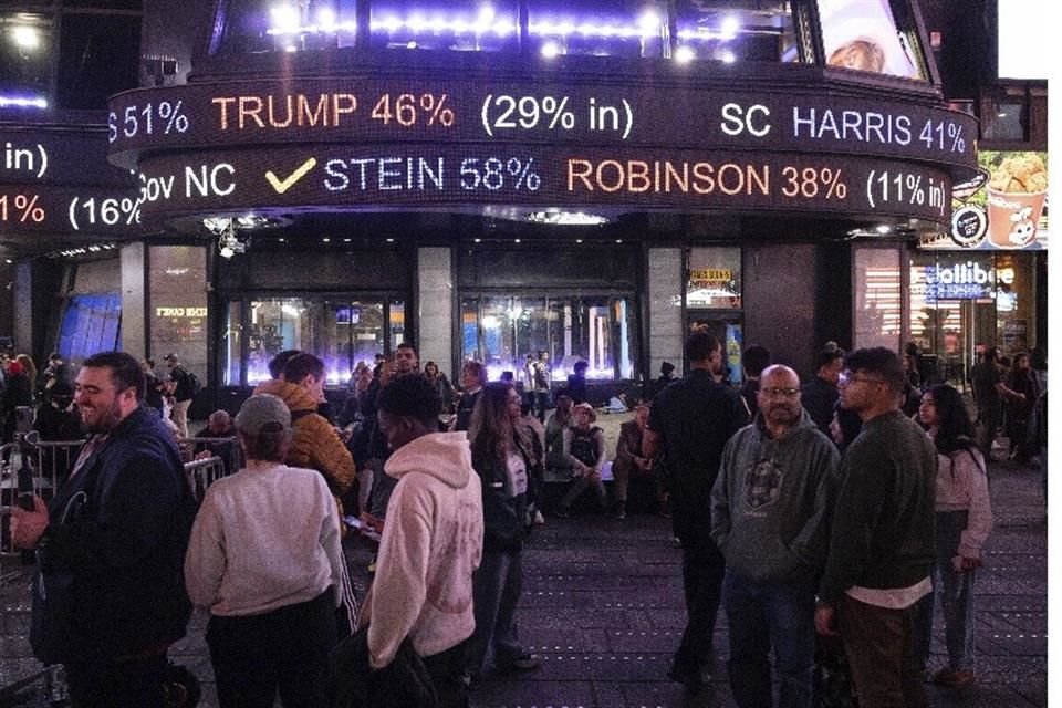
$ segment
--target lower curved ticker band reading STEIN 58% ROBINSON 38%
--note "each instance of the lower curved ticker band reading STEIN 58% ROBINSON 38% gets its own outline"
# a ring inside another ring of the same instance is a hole
[[[767,209],[946,221],[951,179],[900,160],[777,152],[418,144],[308,145],[148,157],[140,208],[482,206]]]

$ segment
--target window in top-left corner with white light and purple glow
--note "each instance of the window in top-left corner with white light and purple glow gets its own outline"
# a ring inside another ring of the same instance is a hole
[[[52,82],[52,21],[33,12],[0,12],[0,95],[46,107]]]

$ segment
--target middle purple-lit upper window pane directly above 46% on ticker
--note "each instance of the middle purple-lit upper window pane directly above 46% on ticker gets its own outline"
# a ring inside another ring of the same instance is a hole
[[[372,14],[373,44],[388,49],[498,52],[519,43],[514,0],[374,0]]]

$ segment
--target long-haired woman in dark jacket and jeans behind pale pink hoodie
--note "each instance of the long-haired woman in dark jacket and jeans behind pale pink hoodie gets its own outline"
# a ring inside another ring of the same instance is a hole
[[[483,488],[483,559],[472,576],[476,633],[469,652],[472,684],[481,674],[538,668],[523,650],[513,614],[523,580],[528,479],[541,459],[538,436],[520,430],[521,398],[503,382],[487,384],[472,410],[468,437]]]

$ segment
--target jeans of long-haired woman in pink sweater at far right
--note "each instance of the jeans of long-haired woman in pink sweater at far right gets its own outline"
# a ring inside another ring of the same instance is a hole
[[[931,575],[934,592],[928,603],[916,612],[918,658],[923,668],[929,658],[933,637],[934,596],[939,598],[944,613],[948,668],[955,671],[974,668],[974,581],[977,571],[957,573],[951,568],[951,559],[958,553],[959,540],[968,519],[968,511],[937,512],[936,563]],[[925,598],[920,602],[925,602]]]

